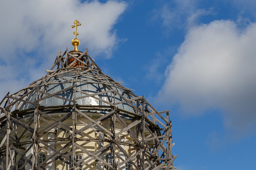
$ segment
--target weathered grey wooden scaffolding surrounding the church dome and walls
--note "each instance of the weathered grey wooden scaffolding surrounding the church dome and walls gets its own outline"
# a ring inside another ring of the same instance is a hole
[[[177,155],[172,154],[174,143],[172,142],[172,121],[169,118],[169,110],[156,111],[144,96],[135,95],[131,89],[122,86],[121,82],[116,82],[104,74],[89,56],[88,49],[83,53],[66,50],[61,55],[61,51],[58,52],[53,66],[46,72],[44,77],[19,92],[7,93],[0,102],[0,169],[16,169],[18,162],[24,159],[25,162],[20,167],[29,165],[32,169],[40,170],[56,160],[69,164],[71,169],[79,169],[92,160],[109,169],[119,169],[129,161],[133,168],[138,170],[174,168],[173,161]],[[66,75],[72,76],[67,78]],[[78,87],[81,83],[101,84],[103,88],[96,93],[89,93]],[[49,86],[56,84],[62,88],[50,93]],[[60,95],[64,93],[71,94],[71,98]],[[77,93],[81,95],[77,96]],[[128,97],[124,97],[124,94]],[[99,97],[100,95],[105,95],[106,99]],[[31,96],[34,98],[32,99]],[[78,99],[89,97],[102,104],[77,103]],[[48,98],[63,100],[64,103],[48,106],[44,104]],[[120,108],[121,104],[129,106],[133,111]],[[101,116],[95,120],[90,117],[90,112]],[[50,113],[61,113],[61,116],[54,118],[50,116]],[[78,129],[76,122],[81,117],[90,120],[91,123],[84,122],[84,126]],[[72,120],[71,126],[64,123],[67,119]],[[131,120],[132,123],[127,123],[126,119]],[[110,121],[110,127],[104,127],[103,121]],[[48,125],[40,127],[42,122]],[[122,130],[116,130],[117,122],[121,124]],[[42,138],[43,135],[56,128],[67,133],[68,137]],[[136,131],[134,132],[132,128]],[[84,136],[83,132],[87,129],[101,134],[102,139]],[[118,139],[124,132],[132,138],[132,143]],[[25,134],[28,140],[21,141]],[[79,145],[78,141],[81,140],[108,144],[93,152]],[[58,150],[49,144],[49,142],[58,141],[65,141],[66,144]],[[121,145],[127,145],[129,149],[125,150]],[[76,160],[74,157],[77,149],[87,156]],[[116,149],[119,149],[125,158],[120,156],[119,152],[115,151]],[[32,150],[30,156],[27,154],[29,150]],[[40,150],[47,152],[48,156],[39,164],[37,153]],[[111,153],[112,162],[106,162],[99,156],[106,151]],[[130,151],[136,152],[131,155],[128,153]],[[72,156],[69,156],[70,154]]]

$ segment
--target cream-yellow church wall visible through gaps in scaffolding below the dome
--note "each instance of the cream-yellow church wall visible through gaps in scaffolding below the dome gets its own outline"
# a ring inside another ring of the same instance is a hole
[[[59,113],[59,114],[52,114],[51,116],[54,118],[54,119],[59,119],[60,117],[62,117],[65,113]],[[49,114],[50,115],[50,114]],[[102,116],[100,113],[94,113],[93,115],[90,115],[90,117],[94,120],[97,120],[100,116]],[[21,121],[25,122],[27,118],[22,118]],[[53,122],[53,120],[47,118],[47,117],[44,117],[43,118],[49,122],[45,122],[45,121],[40,121],[40,128],[39,128],[39,131],[43,128],[45,128],[46,126],[49,125],[50,122]],[[129,125],[132,123],[131,120],[129,119],[125,119],[125,122]],[[70,116],[68,119],[66,119],[65,121],[63,121],[63,123],[69,127],[72,127],[72,116]],[[91,121],[88,120],[87,118],[84,118],[84,117],[81,117],[77,114],[77,122],[76,122],[76,130],[79,130],[81,129],[82,127],[84,127],[86,124],[90,124]],[[100,123],[103,127],[105,127],[106,129],[108,129],[109,131],[111,131],[111,127],[110,127],[110,120],[107,119],[103,122]],[[31,127],[34,128],[34,123],[32,123],[30,125]],[[61,125],[60,125],[61,126]],[[97,125],[96,125],[97,126]],[[96,127],[95,126],[95,127]],[[70,129],[66,128],[66,127],[63,127],[61,126],[62,128],[65,128],[66,130],[72,132]],[[134,126],[131,130],[134,132],[134,134],[136,134],[136,130],[135,130],[135,127]],[[119,131],[121,131],[123,129],[123,126],[117,121],[116,122],[116,133],[118,133]],[[18,130],[18,136],[19,134],[23,133],[24,132],[24,129],[20,129]],[[146,132],[147,133],[147,132]],[[43,132],[42,132],[43,134]],[[105,132],[105,134],[107,134]],[[28,139],[31,137],[31,135],[33,135],[31,132],[27,131],[25,134],[24,134],[24,137],[21,138],[21,142],[26,142],[28,141]],[[56,150],[59,150],[61,149],[66,143],[68,143],[70,141],[70,138],[69,137],[70,134],[68,134],[67,132],[64,132],[62,131],[61,129],[57,128],[56,131],[55,131],[55,139],[60,139],[60,138],[65,138],[66,140],[64,141],[56,141],[55,144],[54,144],[54,147]],[[108,134],[107,134],[108,135]],[[109,135],[110,136],[110,135]],[[96,139],[97,138],[97,132],[95,132],[95,130],[89,128],[87,129],[86,131],[83,131],[82,132],[82,136],[80,135],[77,135],[76,136],[78,139]],[[133,139],[129,136],[128,132],[123,132],[121,135],[119,135],[118,137],[120,138],[123,138],[124,139],[124,142],[127,142],[127,143],[134,143]],[[68,140],[69,138],[69,140]],[[31,140],[31,139],[30,139]],[[40,140],[48,140],[48,133],[45,133],[44,135],[42,135],[42,137],[40,137]],[[46,142],[47,143],[47,142]],[[95,152],[97,150],[97,142],[96,141],[76,141],[76,143],[80,146],[82,146],[83,148],[87,149],[88,151],[90,151],[91,153]],[[104,146],[106,146],[107,144],[109,144],[109,142],[103,142],[104,143]],[[26,145],[24,145],[23,147],[26,147]],[[44,149],[47,149],[46,146],[44,146],[42,143],[39,144],[39,147],[41,147],[41,149],[39,148],[38,149],[38,153],[40,152],[45,152],[43,150]],[[68,147],[66,147],[65,149],[63,149],[61,151],[61,153],[65,153],[65,152],[69,152],[66,154],[66,156],[69,156],[69,155],[72,155],[72,151],[71,150],[71,147],[72,147],[72,144]],[[128,145],[125,145],[124,146],[126,152],[129,154],[129,155],[132,155],[136,152],[136,150],[132,150],[132,151],[128,151],[128,149],[130,148],[133,148],[133,146],[128,146]],[[19,149],[21,152],[24,152],[23,149]],[[109,153],[109,151],[105,152],[104,153],[104,160],[105,160],[105,156],[107,153]],[[116,153],[120,153],[120,150],[119,148],[116,146]],[[76,155],[82,155],[82,158],[84,157],[87,157],[88,155],[86,153],[84,153],[82,150],[80,150],[79,148],[76,148],[75,150],[75,154]],[[45,152],[45,155],[47,157],[47,153]],[[58,155],[58,154],[57,154]],[[63,157],[62,157],[63,158]],[[19,156],[17,156],[17,160],[19,160]],[[121,161],[120,158],[118,158],[116,156],[116,161],[119,163]],[[134,160],[135,162],[135,160]],[[53,169],[57,169],[57,170],[67,170],[68,169],[68,164],[64,163],[63,161],[61,160],[56,160],[55,161],[55,167]],[[83,168],[84,170],[95,170],[96,169],[96,161],[93,159],[91,160],[90,162],[88,162],[86,165],[83,165]]]

